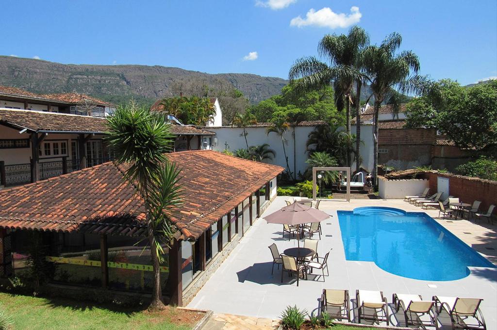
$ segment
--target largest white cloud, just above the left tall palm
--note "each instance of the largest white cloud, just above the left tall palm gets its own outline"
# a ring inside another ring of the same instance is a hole
[[[345,28],[355,23],[358,23],[362,17],[359,11],[359,7],[352,6],[350,8],[350,14],[340,13],[337,14],[333,12],[331,8],[324,7],[318,11],[310,9],[306,18],[299,16],[292,18],[290,21],[290,26],[303,27],[307,25],[314,25],[319,27],[329,27],[331,29]]]

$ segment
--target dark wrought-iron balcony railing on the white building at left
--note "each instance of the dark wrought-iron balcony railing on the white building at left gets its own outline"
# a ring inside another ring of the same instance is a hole
[[[95,166],[110,161],[108,157],[105,158],[86,158],[86,166]],[[62,174],[71,173],[81,169],[81,161],[79,159],[66,159],[39,162],[38,163],[38,180],[45,180],[57,177]],[[31,177],[31,168],[34,166],[32,163],[28,164],[14,164],[4,165],[0,162],[0,185],[5,187],[23,185],[33,182]]]

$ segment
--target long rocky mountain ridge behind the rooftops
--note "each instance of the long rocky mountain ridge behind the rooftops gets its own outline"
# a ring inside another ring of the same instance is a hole
[[[166,66],[73,65],[0,56],[0,85],[43,94],[78,91],[114,103],[134,98],[152,104],[158,98],[179,94],[184,86],[198,90],[203,85],[217,90],[231,85],[251,103],[257,103],[279,94],[287,83],[285,79],[248,73],[209,74]]]

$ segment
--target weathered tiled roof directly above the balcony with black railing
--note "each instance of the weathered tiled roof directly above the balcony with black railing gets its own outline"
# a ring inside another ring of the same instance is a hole
[[[0,109],[0,123],[27,128],[34,132],[107,132],[106,119],[33,110]],[[180,135],[214,135],[193,126],[171,124],[171,133]]]

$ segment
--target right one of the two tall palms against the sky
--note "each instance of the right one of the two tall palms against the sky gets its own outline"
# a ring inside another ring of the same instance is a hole
[[[412,51],[397,54],[402,43],[398,33],[389,35],[380,46],[369,46],[364,50],[364,69],[375,97],[373,114],[373,185],[376,186],[378,174],[378,113],[383,101],[388,97],[394,112],[399,111],[399,92],[425,93],[431,89],[427,76],[417,75],[419,59]]]

